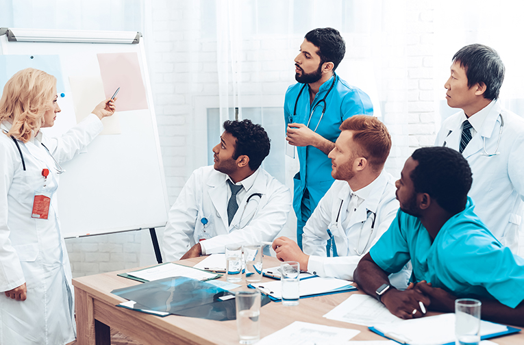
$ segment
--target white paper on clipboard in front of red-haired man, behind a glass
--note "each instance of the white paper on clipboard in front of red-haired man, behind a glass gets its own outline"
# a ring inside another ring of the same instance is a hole
[[[349,285],[351,281],[345,281],[336,278],[322,278],[313,277],[310,279],[301,280],[299,283],[300,296],[311,296],[318,294],[329,294],[338,292],[340,290],[356,290],[353,285]],[[281,281],[266,281],[264,283],[254,283],[251,286],[259,288],[264,294],[269,294],[276,299],[282,299],[282,282]]]

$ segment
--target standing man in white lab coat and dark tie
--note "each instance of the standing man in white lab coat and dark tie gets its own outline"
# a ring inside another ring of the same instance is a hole
[[[475,214],[516,254],[524,197],[524,120],[498,100],[503,79],[504,65],[494,49],[482,44],[460,49],[444,85],[447,104],[460,112],[444,121],[435,145],[456,149],[468,160]]]

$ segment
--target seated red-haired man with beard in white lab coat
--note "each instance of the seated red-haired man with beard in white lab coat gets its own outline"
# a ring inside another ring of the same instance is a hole
[[[353,280],[360,258],[388,229],[399,209],[395,179],[383,170],[391,148],[386,126],[373,116],[355,115],[340,125],[329,188],[305,224],[303,252],[289,238],[273,242],[277,258],[298,261],[301,270],[321,277]],[[334,239],[331,253],[326,244]],[[395,285],[406,288],[410,272],[401,271]]]

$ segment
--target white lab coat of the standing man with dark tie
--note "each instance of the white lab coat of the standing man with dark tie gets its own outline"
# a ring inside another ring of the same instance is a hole
[[[482,138],[486,138],[486,151],[495,153],[502,115],[503,131],[498,152],[500,155],[483,155]],[[475,116],[475,115],[473,115]],[[436,137],[435,145],[445,144],[458,150],[462,136],[464,111],[447,118]],[[519,230],[524,197],[524,120],[503,110],[495,101],[479,132],[462,152],[471,166],[473,184],[469,196],[475,203],[475,214],[486,224],[501,244],[516,254],[519,248]]]

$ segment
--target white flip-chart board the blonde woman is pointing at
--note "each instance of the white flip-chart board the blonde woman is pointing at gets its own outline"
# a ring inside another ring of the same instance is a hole
[[[62,112],[53,127],[42,129],[48,136],[60,136],[77,123],[70,76],[99,76],[98,53],[138,55],[148,109],[118,112],[116,101],[120,133],[97,136],[86,152],[61,164],[66,172],[60,175],[58,215],[64,238],[163,227],[169,201],[143,40],[138,44],[9,42],[3,35],[0,49],[1,55],[22,55],[21,59],[60,56]]]

